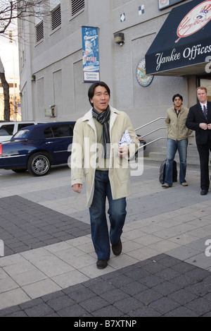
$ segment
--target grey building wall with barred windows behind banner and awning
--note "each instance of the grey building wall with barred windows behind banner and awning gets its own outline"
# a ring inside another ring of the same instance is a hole
[[[22,119],[75,121],[90,109],[82,56],[82,26],[87,26],[98,28],[99,79],[110,87],[110,104],[129,114],[134,128],[141,127],[138,134],[151,131],[146,140],[165,136],[172,96],[180,93],[191,107],[198,85],[206,85],[211,96],[211,75],[205,64],[201,71],[194,65],[187,72],[146,76],[146,53],[174,8],[203,2],[209,16],[211,1],[49,0],[49,15],[19,22]],[[158,140],[147,150],[164,144]]]

